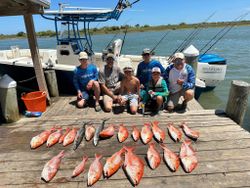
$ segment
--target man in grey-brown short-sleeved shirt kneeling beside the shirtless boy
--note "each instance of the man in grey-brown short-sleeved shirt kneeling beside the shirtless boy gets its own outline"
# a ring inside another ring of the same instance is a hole
[[[106,112],[112,110],[113,102],[118,102],[120,81],[123,77],[121,69],[114,65],[114,60],[113,54],[107,54],[106,65],[99,72],[99,83],[103,93],[103,104]]]

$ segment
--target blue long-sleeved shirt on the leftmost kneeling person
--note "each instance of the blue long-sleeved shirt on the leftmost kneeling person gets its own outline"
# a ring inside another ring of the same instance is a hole
[[[90,80],[98,79],[98,71],[95,65],[88,64],[86,69],[76,67],[74,70],[73,84],[77,91],[85,91]]]

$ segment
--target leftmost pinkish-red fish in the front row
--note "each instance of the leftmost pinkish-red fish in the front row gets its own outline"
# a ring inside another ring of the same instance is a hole
[[[41,179],[48,183],[50,180],[55,177],[61,163],[61,159],[64,157],[64,151],[61,151],[58,155],[53,157],[48,161],[42,171]]]

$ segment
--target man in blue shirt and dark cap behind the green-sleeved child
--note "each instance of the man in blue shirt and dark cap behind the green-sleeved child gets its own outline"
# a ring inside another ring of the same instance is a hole
[[[137,67],[137,72],[136,72],[136,77],[140,80],[140,88],[141,88],[141,92],[140,92],[140,96],[144,96],[145,95],[145,88],[149,82],[149,80],[151,79],[151,72],[153,67],[159,67],[161,72],[164,73],[165,70],[163,68],[163,66],[161,65],[161,63],[159,61],[156,60],[152,60],[151,59],[151,50],[148,48],[145,48],[142,51],[142,58],[143,61],[139,63],[138,67]]]

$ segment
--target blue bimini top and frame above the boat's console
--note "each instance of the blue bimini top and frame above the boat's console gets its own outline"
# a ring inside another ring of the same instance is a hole
[[[81,8],[69,7],[65,4],[59,4],[59,10],[46,10],[42,17],[55,22],[57,44],[77,45],[77,51],[86,51],[89,55],[93,54],[92,40],[89,32],[91,22],[106,22],[111,19],[118,20],[124,9],[132,7],[133,3],[127,0],[119,0],[116,7],[112,9],[104,8]],[[79,23],[83,23],[83,36],[80,34]],[[67,36],[63,36],[58,31],[58,25],[67,26]]]

